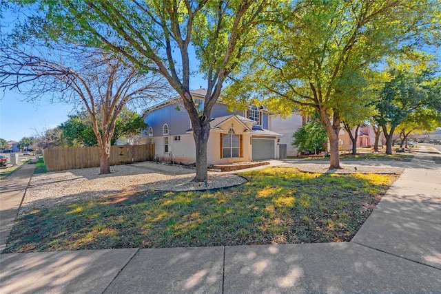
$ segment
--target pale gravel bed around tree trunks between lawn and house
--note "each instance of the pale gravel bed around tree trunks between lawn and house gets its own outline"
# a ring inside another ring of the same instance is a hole
[[[295,162],[271,162],[271,166],[296,167],[300,171],[313,173],[375,173],[401,174],[404,169],[345,166],[329,170],[327,164],[300,164]],[[254,169],[265,168],[254,167]],[[192,191],[232,187],[246,182],[245,178],[233,172],[209,171],[207,185],[192,182],[194,169],[181,165],[166,165],[156,162],[141,162],[133,165],[111,167],[112,174],[99,175],[99,168],[74,169],[32,176],[26,190],[19,214],[34,209],[54,207],[66,202],[106,195],[117,195],[133,191]]]

